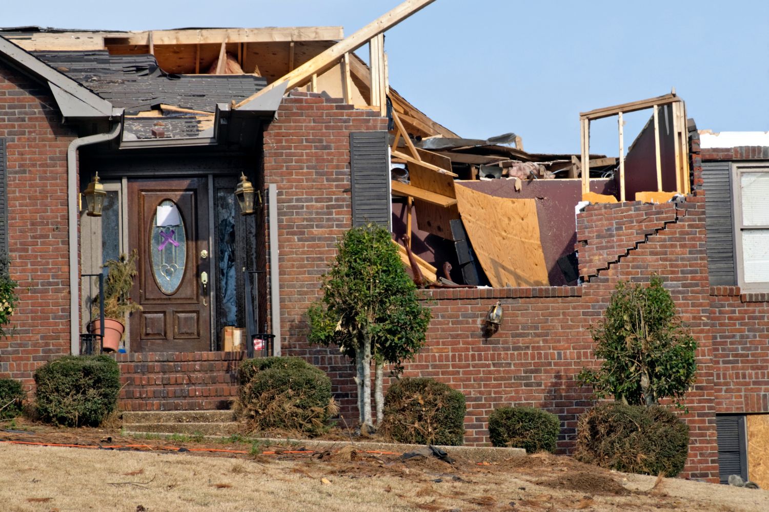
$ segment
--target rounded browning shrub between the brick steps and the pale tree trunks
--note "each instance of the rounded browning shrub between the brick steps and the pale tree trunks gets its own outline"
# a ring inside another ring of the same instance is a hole
[[[251,431],[280,429],[319,435],[338,407],[331,379],[301,358],[270,357],[241,362],[241,417]]]

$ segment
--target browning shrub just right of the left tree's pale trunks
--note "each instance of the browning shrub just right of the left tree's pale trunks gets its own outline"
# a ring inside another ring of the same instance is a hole
[[[381,431],[411,444],[464,442],[464,395],[432,378],[401,378],[384,397]]]

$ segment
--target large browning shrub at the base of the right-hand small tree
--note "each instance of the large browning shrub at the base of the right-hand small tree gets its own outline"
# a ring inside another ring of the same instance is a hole
[[[614,402],[579,418],[574,457],[617,471],[674,477],[688,451],[689,428],[671,411]]]

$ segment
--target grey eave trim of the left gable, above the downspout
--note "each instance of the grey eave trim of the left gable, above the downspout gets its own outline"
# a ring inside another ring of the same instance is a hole
[[[2,36],[0,36],[0,59],[8,61],[8,64],[38,81],[51,84],[56,102],[65,117],[112,117],[116,114],[109,101],[88,91],[72,78],[56,71]],[[65,114],[65,111],[68,114]]]

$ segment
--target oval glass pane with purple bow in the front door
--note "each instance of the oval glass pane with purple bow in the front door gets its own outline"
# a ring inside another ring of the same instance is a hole
[[[158,205],[149,246],[155,282],[161,292],[171,295],[181,285],[187,263],[185,223],[173,201],[163,200]]]

